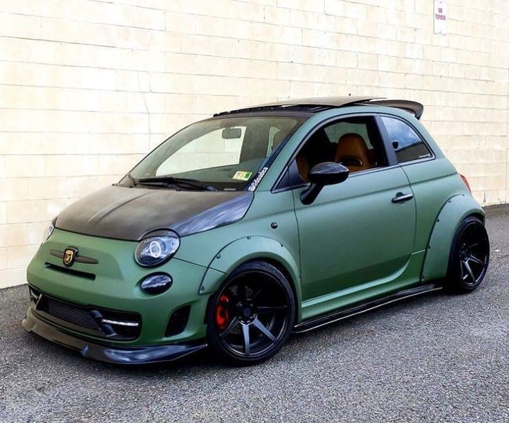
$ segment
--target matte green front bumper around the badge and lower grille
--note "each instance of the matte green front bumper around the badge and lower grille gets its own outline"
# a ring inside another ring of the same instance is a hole
[[[91,331],[89,329],[93,324],[80,323],[80,316],[73,316],[71,320],[64,318],[67,323],[63,323],[48,318],[38,309],[37,318],[72,337],[86,340],[85,343],[101,345],[104,342],[120,350],[130,351],[147,345],[187,345],[204,339],[210,294],[201,295],[198,290],[207,269],[176,257],[155,269],[142,268],[133,258],[136,245],[136,242],[108,240],[55,229],[50,239],[41,245],[27,271],[30,287],[61,303],[81,307],[82,311],[110,310],[138,315],[140,332],[136,337],[115,338],[108,333],[99,334],[97,327],[95,332]],[[76,261],[72,267],[65,267],[62,258],[55,256],[55,251],[64,251],[68,246],[79,249],[79,255],[93,258],[96,263]],[[162,294],[152,295],[141,291],[140,282],[149,274],[161,271],[172,276],[173,285]],[[182,324],[176,324],[179,321],[174,320],[179,312],[187,313],[187,318],[181,319]],[[62,318],[59,314],[57,317]],[[86,317],[90,319],[90,316]],[[105,317],[117,320],[115,316]],[[73,324],[69,324],[69,321]]]

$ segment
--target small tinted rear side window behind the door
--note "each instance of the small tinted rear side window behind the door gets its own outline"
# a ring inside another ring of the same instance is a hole
[[[398,163],[427,159],[432,156],[423,139],[410,125],[402,120],[389,118],[389,116],[382,116],[382,121],[396,152]]]

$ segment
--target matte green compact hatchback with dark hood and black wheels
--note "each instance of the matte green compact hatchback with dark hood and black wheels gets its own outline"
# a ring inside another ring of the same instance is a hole
[[[185,127],[60,213],[23,326],[84,357],[266,360],[291,332],[446,287],[489,260],[483,210],[423,106],[286,100]]]

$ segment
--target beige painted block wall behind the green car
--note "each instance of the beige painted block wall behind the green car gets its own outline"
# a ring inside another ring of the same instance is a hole
[[[0,287],[47,222],[179,127],[274,98],[418,100],[482,204],[507,202],[508,0],[1,0]]]

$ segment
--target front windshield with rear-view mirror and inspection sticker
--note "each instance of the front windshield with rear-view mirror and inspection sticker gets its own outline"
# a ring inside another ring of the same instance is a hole
[[[194,123],[148,154],[122,183],[183,178],[216,190],[242,190],[304,120],[302,116],[244,116]]]

